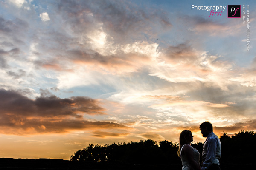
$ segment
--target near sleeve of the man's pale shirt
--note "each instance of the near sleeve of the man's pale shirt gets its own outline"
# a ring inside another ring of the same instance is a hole
[[[210,138],[207,141],[206,158],[203,162],[202,170],[207,170],[212,165],[212,161],[215,160],[217,141],[214,138]]]

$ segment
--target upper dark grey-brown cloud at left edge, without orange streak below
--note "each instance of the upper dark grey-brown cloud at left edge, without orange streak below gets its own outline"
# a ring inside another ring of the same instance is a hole
[[[45,93],[45,92],[44,92]],[[43,92],[41,92],[43,94]],[[1,114],[15,114],[24,116],[73,116],[79,113],[105,114],[99,103],[87,97],[71,97],[61,99],[57,96],[41,96],[35,100],[29,99],[15,91],[0,90]]]

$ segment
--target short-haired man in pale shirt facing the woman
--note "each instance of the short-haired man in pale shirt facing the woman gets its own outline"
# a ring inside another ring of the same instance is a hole
[[[213,133],[212,124],[210,122],[203,122],[199,126],[199,129],[203,137],[206,137],[202,153],[202,170],[220,170],[220,139]]]

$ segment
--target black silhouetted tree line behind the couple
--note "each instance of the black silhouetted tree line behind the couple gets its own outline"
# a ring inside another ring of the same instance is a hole
[[[223,132],[220,136],[223,169],[245,169],[255,167],[256,133],[241,130],[232,136]],[[192,147],[202,153],[204,143],[192,143]],[[167,140],[140,140],[140,142],[113,143],[101,145],[89,144],[88,147],[76,151],[70,161],[94,164],[135,164],[166,165],[181,169],[181,160],[177,156],[178,143]],[[174,169],[174,168],[172,168]]]

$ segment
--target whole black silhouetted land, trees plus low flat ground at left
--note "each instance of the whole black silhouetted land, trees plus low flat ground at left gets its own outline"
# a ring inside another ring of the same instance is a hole
[[[221,170],[254,169],[256,166],[256,133],[243,131],[220,137]],[[203,143],[192,144],[200,153]],[[0,170],[181,170],[178,144],[169,141],[93,145],[76,151],[70,161],[63,159],[0,159]]]

